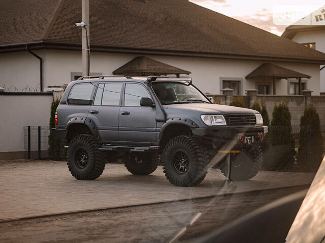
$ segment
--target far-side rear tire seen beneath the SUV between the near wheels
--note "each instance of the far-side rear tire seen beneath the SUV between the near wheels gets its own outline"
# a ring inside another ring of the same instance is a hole
[[[132,154],[123,159],[126,169],[133,175],[149,175],[157,169],[157,153]]]

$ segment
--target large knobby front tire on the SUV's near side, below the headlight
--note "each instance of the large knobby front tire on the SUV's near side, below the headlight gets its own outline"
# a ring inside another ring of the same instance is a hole
[[[209,155],[192,136],[177,136],[166,144],[161,158],[166,178],[175,186],[196,186],[206,174]]]

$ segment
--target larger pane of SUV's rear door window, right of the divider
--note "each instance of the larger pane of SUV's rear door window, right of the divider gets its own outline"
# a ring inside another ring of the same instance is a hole
[[[102,105],[120,105],[121,91],[121,83],[105,84],[102,97]]]

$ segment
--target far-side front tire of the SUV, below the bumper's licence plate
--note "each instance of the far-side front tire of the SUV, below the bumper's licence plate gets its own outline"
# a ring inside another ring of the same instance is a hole
[[[232,162],[229,179],[233,181],[244,181],[253,178],[262,166],[263,152],[261,146],[245,148],[241,152],[246,153],[247,156],[240,157],[240,154],[230,154]],[[229,171],[226,161],[224,161],[220,170],[228,178]]]

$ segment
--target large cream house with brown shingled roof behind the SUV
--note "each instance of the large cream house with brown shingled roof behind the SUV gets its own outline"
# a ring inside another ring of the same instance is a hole
[[[44,91],[81,76],[81,29],[74,27],[81,19],[80,1],[7,0],[0,5],[0,87]],[[91,75],[128,74],[116,70],[149,60],[150,65],[159,62],[158,69],[134,73],[167,74],[167,65],[214,94],[224,88],[234,95],[248,89],[298,94],[291,92],[291,82],[297,86],[302,78],[302,89],[319,95],[319,65],[325,64],[323,53],[187,0],[90,1],[90,50]],[[263,64],[277,71],[249,75]],[[283,68],[298,76],[289,83],[290,76],[279,72]]]

